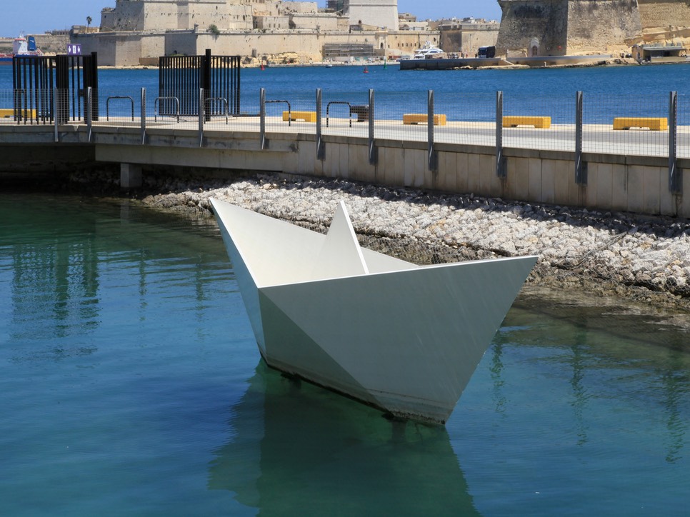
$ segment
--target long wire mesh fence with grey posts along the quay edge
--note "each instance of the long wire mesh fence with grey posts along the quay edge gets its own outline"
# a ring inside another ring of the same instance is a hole
[[[89,124],[142,132],[174,127],[256,133],[257,140],[266,133],[339,135],[426,142],[430,149],[495,147],[497,156],[501,149],[523,148],[690,158],[690,96],[673,92],[584,93],[581,109],[576,96],[501,92],[327,90],[277,97],[267,89],[237,91],[233,101],[204,89],[187,92],[185,99],[178,94],[136,88],[0,90],[0,125]],[[190,113],[184,108],[190,99],[203,109]],[[55,117],[61,109],[69,112]]]

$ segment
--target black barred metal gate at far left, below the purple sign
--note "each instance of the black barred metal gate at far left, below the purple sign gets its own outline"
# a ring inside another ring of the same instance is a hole
[[[21,124],[67,124],[86,118],[86,91],[98,120],[98,56],[14,56],[14,118]]]

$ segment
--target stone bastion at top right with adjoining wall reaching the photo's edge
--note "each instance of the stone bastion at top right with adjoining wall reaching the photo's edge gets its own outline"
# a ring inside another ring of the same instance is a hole
[[[501,55],[618,53],[690,36],[686,0],[498,0]]]

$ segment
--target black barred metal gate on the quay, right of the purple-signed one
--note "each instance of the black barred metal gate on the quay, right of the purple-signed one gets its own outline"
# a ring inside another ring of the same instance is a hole
[[[204,114],[239,115],[240,56],[161,56],[159,106],[164,115],[199,114],[199,90],[204,89]]]

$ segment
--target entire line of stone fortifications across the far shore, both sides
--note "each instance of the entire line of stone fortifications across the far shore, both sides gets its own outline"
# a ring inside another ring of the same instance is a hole
[[[99,64],[155,65],[159,56],[245,56],[245,64],[411,56],[426,41],[474,57],[629,54],[634,45],[690,43],[689,0],[497,0],[501,23],[419,23],[396,0],[115,0],[99,31],[72,31]]]

